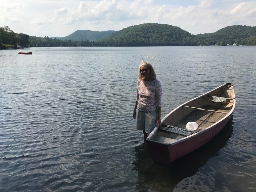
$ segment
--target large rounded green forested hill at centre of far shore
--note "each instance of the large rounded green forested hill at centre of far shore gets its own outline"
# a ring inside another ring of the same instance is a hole
[[[177,26],[147,23],[127,27],[98,40],[95,46],[195,45],[194,35]]]

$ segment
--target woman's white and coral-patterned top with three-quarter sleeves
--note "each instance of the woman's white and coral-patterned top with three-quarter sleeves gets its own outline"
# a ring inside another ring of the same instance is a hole
[[[138,109],[140,111],[155,111],[162,106],[162,86],[158,79],[154,81],[139,81],[137,83]]]

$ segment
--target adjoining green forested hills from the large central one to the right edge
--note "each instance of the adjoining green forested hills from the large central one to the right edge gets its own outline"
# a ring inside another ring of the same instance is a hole
[[[96,46],[195,46],[195,45],[256,45],[256,27],[234,25],[216,31],[192,35],[167,24],[130,26],[98,40]]]

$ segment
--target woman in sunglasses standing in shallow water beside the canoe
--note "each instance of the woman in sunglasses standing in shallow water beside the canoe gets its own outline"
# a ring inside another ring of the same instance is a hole
[[[156,73],[149,62],[139,65],[137,95],[133,118],[136,120],[136,130],[142,130],[144,138],[161,123],[162,87]]]

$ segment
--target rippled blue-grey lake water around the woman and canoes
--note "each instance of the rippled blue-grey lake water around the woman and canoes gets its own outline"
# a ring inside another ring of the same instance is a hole
[[[255,191],[256,46],[0,50],[0,191]],[[168,165],[132,117],[138,65],[161,81],[161,118],[233,81],[232,119]]]

